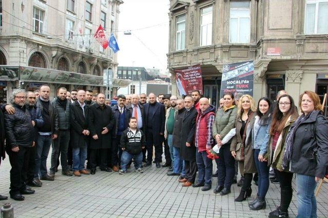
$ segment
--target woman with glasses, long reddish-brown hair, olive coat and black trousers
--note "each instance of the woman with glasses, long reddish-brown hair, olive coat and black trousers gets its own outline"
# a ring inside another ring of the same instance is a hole
[[[293,172],[282,169],[282,157],[287,133],[297,117],[293,98],[290,95],[280,96],[273,112],[268,144],[268,164],[274,169],[280,183],[280,206],[269,213],[270,218],[289,216],[288,208],[293,197]]]

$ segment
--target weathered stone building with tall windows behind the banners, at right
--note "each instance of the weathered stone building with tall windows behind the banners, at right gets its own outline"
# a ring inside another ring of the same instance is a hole
[[[328,88],[328,0],[172,0],[168,66],[201,64],[203,92],[218,102],[223,64],[254,60],[254,98]],[[325,104],[327,115],[327,104]]]

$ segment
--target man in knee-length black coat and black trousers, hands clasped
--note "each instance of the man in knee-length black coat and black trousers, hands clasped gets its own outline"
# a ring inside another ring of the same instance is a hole
[[[97,103],[89,108],[89,129],[92,137],[89,150],[92,175],[96,173],[98,150],[100,170],[112,171],[108,168],[108,150],[111,148],[112,130],[115,124],[112,108],[105,104],[105,95],[99,93],[96,98]]]

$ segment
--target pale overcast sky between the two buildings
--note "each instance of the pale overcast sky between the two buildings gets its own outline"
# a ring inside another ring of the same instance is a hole
[[[118,21],[118,66],[167,69],[169,1],[124,0]],[[124,35],[131,30],[131,35]]]

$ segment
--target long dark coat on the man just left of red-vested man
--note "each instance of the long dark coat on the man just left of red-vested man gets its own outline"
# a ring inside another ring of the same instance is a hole
[[[197,110],[192,107],[190,111],[185,111],[183,113],[184,118],[182,118],[181,124],[181,147],[180,147],[180,157],[182,160],[193,161],[196,160],[196,147],[194,143],[195,129],[196,129],[196,118]],[[186,142],[191,146],[187,147]]]

